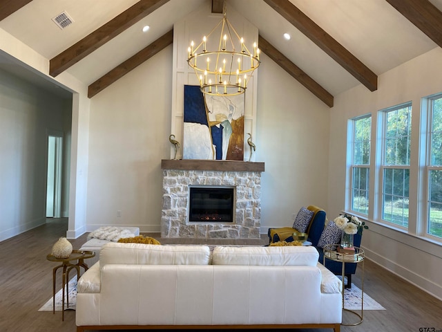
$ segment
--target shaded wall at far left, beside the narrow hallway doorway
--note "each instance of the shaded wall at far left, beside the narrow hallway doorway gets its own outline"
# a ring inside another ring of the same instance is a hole
[[[65,100],[0,71],[0,241],[46,222],[46,133],[66,114]]]

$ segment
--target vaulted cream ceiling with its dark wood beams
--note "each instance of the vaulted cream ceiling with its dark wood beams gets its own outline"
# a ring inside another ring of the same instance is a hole
[[[173,24],[222,0],[1,0],[0,28],[99,93],[173,42]],[[226,0],[259,47],[329,107],[334,96],[442,47],[442,0]],[[52,21],[67,12],[73,23]],[[143,26],[150,26],[142,33]],[[289,33],[291,39],[282,35]],[[15,71],[0,58],[0,68]],[[17,68],[17,73],[21,69]]]

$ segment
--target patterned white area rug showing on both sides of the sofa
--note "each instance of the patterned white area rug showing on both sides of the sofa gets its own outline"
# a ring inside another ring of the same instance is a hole
[[[361,310],[361,289],[352,284],[352,288],[345,289],[344,292],[344,304],[346,309]],[[66,308],[66,294],[64,298],[65,310],[75,310],[77,304],[77,275],[70,279],[69,282],[69,308]],[[372,297],[369,297],[367,293],[364,293],[364,310],[385,310],[381,304],[378,304]],[[39,311],[52,311],[52,297],[48,299]],[[61,289],[55,294],[55,311],[61,311]]]

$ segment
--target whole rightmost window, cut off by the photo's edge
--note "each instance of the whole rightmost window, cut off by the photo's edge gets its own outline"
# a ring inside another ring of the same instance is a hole
[[[426,233],[442,238],[442,95],[428,100],[430,149]]]

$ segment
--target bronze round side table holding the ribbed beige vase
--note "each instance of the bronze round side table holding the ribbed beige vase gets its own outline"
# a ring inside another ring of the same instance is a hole
[[[56,258],[54,255],[49,254],[46,256],[48,261],[58,261],[61,262],[59,266],[55,266],[52,270],[52,313],[55,314],[55,279],[57,276],[57,270],[59,268],[63,268],[63,299],[61,299],[61,320],[64,320],[64,288],[66,287],[66,298],[67,304],[69,308],[69,290],[68,290],[68,278],[69,272],[73,268],[77,270],[77,279],[80,277],[80,267],[84,268],[84,270],[88,270],[88,265],[84,263],[84,259],[92,258],[95,256],[95,252],[93,251],[80,251],[73,250],[73,252],[67,258]],[[77,261],[76,264],[71,263],[71,261]]]

